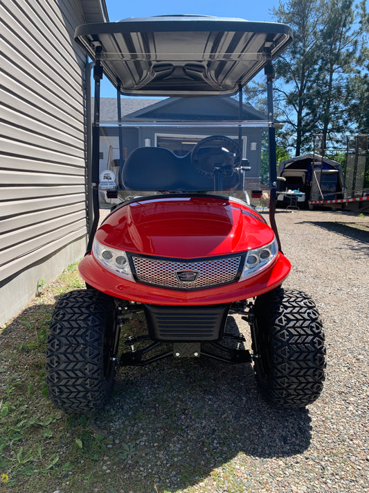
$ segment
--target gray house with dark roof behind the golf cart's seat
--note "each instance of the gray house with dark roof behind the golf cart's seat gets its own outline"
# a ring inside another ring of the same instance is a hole
[[[117,103],[114,98],[101,98],[100,106],[100,171],[114,167],[119,157],[118,128],[111,126],[118,120]],[[237,121],[238,101],[235,98],[210,96],[202,98],[143,99],[122,98],[121,114],[124,121],[183,121],[204,122],[204,126],[173,128],[165,126],[132,127],[123,123],[123,158],[136,147],[165,147],[177,155],[185,155],[204,137],[227,135],[235,140],[238,128],[210,128],[206,121]],[[242,119],[265,121],[267,116],[255,110],[249,103],[243,104]],[[243,157],[249,159],[251,170],[246,175],[246,188],[260,184],[260,159],[263,128],[244,128],[242,132]]]

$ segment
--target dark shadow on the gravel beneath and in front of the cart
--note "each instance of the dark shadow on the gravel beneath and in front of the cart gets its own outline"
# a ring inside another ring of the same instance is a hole
[[[303,453],[312,430],[308,410],[276,410],[262,401],[250,365],[207,359],[118,372],[114,399],[95,424],[119,441],[119,475],[134,493],[196,485],[236,456],[245,473],[253,458]]]

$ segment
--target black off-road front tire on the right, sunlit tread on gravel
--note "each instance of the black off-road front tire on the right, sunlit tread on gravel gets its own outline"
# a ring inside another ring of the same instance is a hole
[[[276,288],[258,296],[251,327],[254,370],[272,406],[300,408],[321,394],[324,334],[315,303],[305,293]]]

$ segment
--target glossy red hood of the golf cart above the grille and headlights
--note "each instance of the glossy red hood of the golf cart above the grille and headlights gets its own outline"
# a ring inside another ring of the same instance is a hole
[[[179,259],[244,252],[273,237],[246,205],[210,196],[141,198],[111,213],[96,233],[118,250]]]

